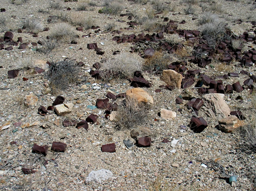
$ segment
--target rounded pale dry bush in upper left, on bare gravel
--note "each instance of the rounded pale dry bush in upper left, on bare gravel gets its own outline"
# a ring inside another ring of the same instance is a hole
[[[57,39],[65,42],[73,40],[75,35],[73,27],[65,22],[55,24],[49,30],[49,37],[51,39]]]

